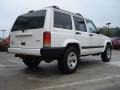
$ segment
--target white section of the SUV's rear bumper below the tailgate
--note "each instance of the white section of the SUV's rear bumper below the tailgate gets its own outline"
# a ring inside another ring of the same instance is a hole
[[[8,52],[21,55],[41,56],[40,49],[8,48]]]

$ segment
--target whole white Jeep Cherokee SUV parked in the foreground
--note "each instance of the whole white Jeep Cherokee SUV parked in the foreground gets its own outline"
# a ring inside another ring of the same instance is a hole
[[[69,74],[76,71],[80,56],[101,54],[102,61],[109,62],[111,46],[91,20],[51,6],[17,18],[8,50],[28,67],[58,60],[60,70]]]

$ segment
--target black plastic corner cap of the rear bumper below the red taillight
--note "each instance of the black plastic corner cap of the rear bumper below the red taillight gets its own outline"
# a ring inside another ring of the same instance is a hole
[[[44,58],[59,58],[63,55],[65,47],[42,48],[40,53]]]

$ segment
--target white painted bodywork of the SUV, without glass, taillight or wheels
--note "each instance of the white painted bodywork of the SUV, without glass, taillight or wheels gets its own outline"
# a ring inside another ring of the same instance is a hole
[[[40,50],[43,48],[43,32],[45,31],[50,31],[51,33],[51,47],[66,47],[69,43],[78,43],[81,49],[82,46],[106,46],[106,43],[108,41],[110,42],[108,37],[98,34],[94,34],[94,37],[90,39],[89,30],[87,30],[87,32],[75,31],[73,16],[83,17],[75,13],[53,9],[51,7],[44,9],[47,10],[44,28],[25,30],[24,33],[22,31],[11,32],[10,37],[13,44],[10,45],[9,52],[40,56]],[[54,11],[71,15],[72,30],[54,27]],[[76,32],[80,32],[81,35],[77,35]],[[18,37],[16,37],[16,35]],[[26,45],[21,45],[21,42],[25,42]],[[104,50],[103,48],[90,48],[81,49],[80,51],[81,54],[84,55],[94,53],[94,51],[95,53],[100,53]]]

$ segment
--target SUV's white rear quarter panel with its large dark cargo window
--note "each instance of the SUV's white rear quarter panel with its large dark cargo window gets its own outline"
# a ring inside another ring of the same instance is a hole
[[[52,22],[52,47],[61,47],[66,40],[75,38],[72,30],[72,18],[68,12],[63,10],[53,11]]]

